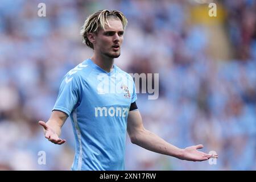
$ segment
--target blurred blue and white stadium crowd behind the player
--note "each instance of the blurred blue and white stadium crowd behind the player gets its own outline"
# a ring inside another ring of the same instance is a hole
[[[46,17],[38,4],[46,3]],[[217,3],[209,17],[208,3]],[[178,147],[204,144],[216,165],[185,162],[130,143],[127,170],[256,169],[256,1],[0,1],[0,169],[69,170],[74,139],[49,143],[47,121],[61,78],[92,55],[79,34],[86,16],[121,10],[129,21],[115,64],[159,73],[159,98],[138,94],[147,129]],[[46,165],[38,152],[46,151]]]

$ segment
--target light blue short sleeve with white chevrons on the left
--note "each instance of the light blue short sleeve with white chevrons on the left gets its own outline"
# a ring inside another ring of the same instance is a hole
[[[73,77],[68,74],[65,75],[61,81],[59,94],[52,111],[60,110],[70,115],[79,102],[79,85],[79,78],[77,75]]]

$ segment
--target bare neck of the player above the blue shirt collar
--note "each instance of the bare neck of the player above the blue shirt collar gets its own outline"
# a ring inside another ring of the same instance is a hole
[[[91,60],[93,61],[93,63],[97,64],[100,68],[104,69],[108,73],[113,68],[114,58],[110,58],[105,55],[97,56],[96,54],[94,54]]]

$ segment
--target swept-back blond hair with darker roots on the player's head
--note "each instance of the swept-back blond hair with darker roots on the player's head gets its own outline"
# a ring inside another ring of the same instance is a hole
[[[86,44],[93,49],[93,44],[88,39],[89,32],[98,32],[98,30],[105,30],[105,24],[109,25],[108,19],[119,19],[122,22],[123,29],[127,26],[127,19],[120,11],[113,10],[100,10],[86,18],[84,25],[81,28],[80,34],[82,35],[82,43]]]

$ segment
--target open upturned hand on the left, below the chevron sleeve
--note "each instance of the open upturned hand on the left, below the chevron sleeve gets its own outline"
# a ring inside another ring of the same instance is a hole
[[[55,144],[63,144],[66,142],[66,140],[59,138],[57,133],[49,125],[47,125],[46,122],[39,121],[38,123],[39,125],[43,126],[44,135],[50,142]]]

